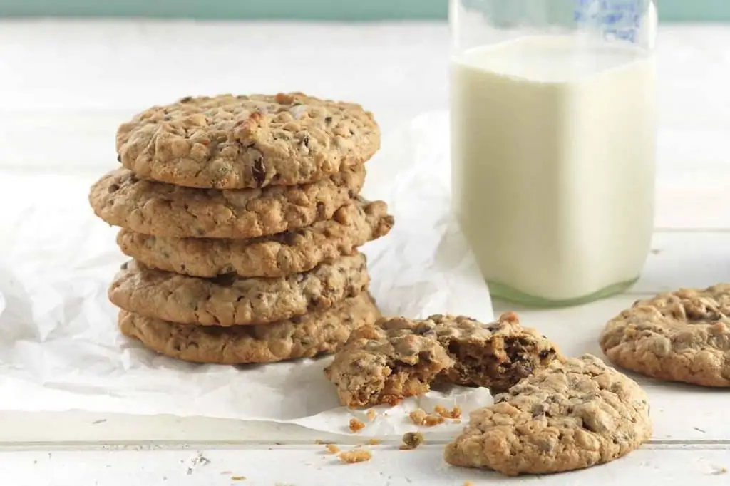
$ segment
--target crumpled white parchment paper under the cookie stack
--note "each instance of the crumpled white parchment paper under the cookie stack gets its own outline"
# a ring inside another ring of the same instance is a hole
[[[396,217],[391,234],[363,247],[371,291],[385,315],[454,313],[488,321],[488,289],[450,215],[443,121],[443,115],[414,120],[385,138],[369,162],[364,196],[384,199]],[[357,416],[367,423],[359,435],[383,437],[412,431],[413,409],[458,405],[466,413],[491,403],[487,390],[453,387],[377,407],[370,421],[364,411],[339,406],[322,372],[331,358],[196,365],[126,339],[107,300],[110,280],[126,261],[115,245],[118,228],[97,219],[87,200],[100,175],[0,172],[1,410],[223,417],[333,433],[348,433]],[[462,426],[447,420],[437,429],[454,433]]]

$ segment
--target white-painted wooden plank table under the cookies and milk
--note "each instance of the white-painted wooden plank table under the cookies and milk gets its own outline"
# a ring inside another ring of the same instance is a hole
[[[730,279],[730,26],[664,27],[658,45],[657,229],[642,279],[623,296],[586,306],[518,309],[527,325],[569,354],[600,354],[602,324],[639,297]],[[383,150],[397,150],[397,134],[408,120],[447,107],[446,58],[442,24],[0,23],[0,169],[101,173],[113,160],[121,120],[189,93],[303,90],[353,99],[376,114]],[[510,307],[498,302],[495,308]],[[607,466],[511,481],[730,485],[730,391],[639,381],[652,404],[650,444]],[[302,428],[201,417],[3,413],[1,484],[505,480],[447,467],[442,444],[412,452],[395,444],[368,446],[369,463],[345,466],[325,455],[316,439],[354,444],[350,437]]]

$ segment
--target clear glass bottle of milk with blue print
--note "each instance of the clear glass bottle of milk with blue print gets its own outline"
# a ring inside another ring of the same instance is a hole
[[[495,298],[583,304],[650,250],[653,0],[451,0],[453,209]]]

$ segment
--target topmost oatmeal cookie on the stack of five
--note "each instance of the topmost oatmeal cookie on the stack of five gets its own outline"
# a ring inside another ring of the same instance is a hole
[[[303,93],[187,97],[117,131],[124,167],[193,188],[306,184],[364,163],[379,147],[370,112]]]

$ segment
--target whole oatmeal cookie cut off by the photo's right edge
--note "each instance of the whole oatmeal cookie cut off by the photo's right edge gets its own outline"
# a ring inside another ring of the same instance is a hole
[[[730,387],[730,285],[637,301],[599,339],[612,363],[648,377]]]

